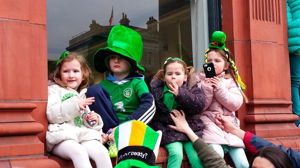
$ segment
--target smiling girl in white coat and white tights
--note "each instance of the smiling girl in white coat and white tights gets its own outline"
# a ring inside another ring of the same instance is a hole
[[[102,145],[103,121],[94,111],[89,116],[84,112],[94,102],[93,97],[85,99],[90,76],[82,56],[64,52],[57,61],[48,82],[46,146],[48,152],[72,160],[75,168],[92,167],[89,159],[109,168],[112,163]]]

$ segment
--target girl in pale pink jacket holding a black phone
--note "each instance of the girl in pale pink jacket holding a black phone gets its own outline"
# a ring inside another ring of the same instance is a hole
[[[220,156],[228,152],[237,168],[248,168],[249,164],[244,152],[242,139],[231,133],[226,133],[215,124],[216,114],[222,114],[239,127],[240,121],[235,116],[235,111],[243,103],[243,90],[246,86],[242,83],[237,68],[233,62],[232,54],[225,48],[226,35],[222,31],[212,34],[212,43],[205,53],[205,63],[212,62],[217,77],[206,78],[204,73],[199,73],[198,86],[202,90],[206,105],[200,114],[200,119],[205,124],[202,139],[211,145]],[[247,97],[245,100],[247,101]]]

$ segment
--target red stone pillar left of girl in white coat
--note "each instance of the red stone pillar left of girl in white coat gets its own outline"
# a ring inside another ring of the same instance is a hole
[[[44,156],[46,0],[0,4],[0,167],[59,167]]]

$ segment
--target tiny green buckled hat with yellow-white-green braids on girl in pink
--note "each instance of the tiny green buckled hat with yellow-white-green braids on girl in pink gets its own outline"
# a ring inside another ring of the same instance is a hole
[[[239,87],[241,88],[242,91],[244,91],[246,89],[246,85],[242,82],[242,79],[237,71],[237,66],[235,65],[232,58],[230,58],[229,56],[229,50],[225,47],[225,41],[226,41],[226,34],[224,32],[215,31],[212,33],[212,38],[211,38],[211,42],[209,43],[209,48],[205,51],[205,56],[204,56],[205,63],[207,63],[207,52],[209,51],[209,49],[215,48],[215,49],[224,50],[227,57],[227,62],[229,62],[232,65],[236,73]]]

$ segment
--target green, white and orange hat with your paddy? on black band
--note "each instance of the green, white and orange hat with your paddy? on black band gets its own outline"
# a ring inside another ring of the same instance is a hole
[[[141,121],[130,120],[120,124],[114,133],[118,148],[115,168],[155,166],[162,132],[155,132]]]

